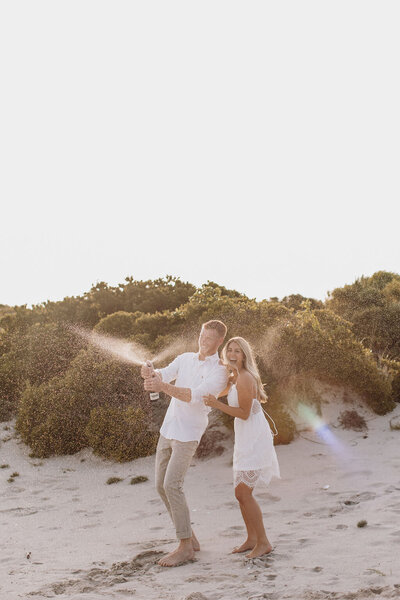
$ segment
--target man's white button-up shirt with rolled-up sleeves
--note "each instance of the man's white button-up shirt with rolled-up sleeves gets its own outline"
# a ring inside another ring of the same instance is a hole
[[[228,381],[226,367],[220,364],[218,354],[200,360],[198,352],[180,354],[164,369],[159,369],[162,380],[176,387],[190,388],[192,399],[183,402],[172,397],[160,433],[169,440],[200,442],[208,425],[210,408],[204,405],[203,396],[217,397]]]

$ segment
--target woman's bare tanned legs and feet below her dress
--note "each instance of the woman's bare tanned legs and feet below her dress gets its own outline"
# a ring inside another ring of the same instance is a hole
[[[272,546],[265,533],[261,509],[258,502],[253,498],[253,489],[244,483],[239,483],[235,488],[235,495],[241,509],[243,506],[242,515],[246,524],[248,540],[254,541],[254,538],[252,539],[249,537],[250,535],[253,536],[254,532],[256,537],[255,545],[251,547],[251,552],[247,554],[247,557],[257,558],[258,556],[269,554],[272,550]],[[244,546],[246,542],[242,544],[242,546]]]

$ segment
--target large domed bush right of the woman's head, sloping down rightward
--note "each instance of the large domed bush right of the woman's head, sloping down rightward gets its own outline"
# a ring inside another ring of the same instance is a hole
[[[349,323],[327,310],[305,308],[276,329],[263,362],[272,389],[294,376],[345,385],[377,413],[394,408],[391,386]]]

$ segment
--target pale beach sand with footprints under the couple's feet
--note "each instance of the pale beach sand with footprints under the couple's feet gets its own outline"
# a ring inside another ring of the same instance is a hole
[[[400,406],[385,416],[357,409],[367,432],[339,428],[343,407],[330,403],[323,415],[337,446],[311,430],[277,447],[282,479],[257,494],[275,548],[265,558],[230,554],[244,539],[232,438],[222,455],[195,459],[186,492],[202,549],[177,568],[157,565],[175,540],[154,489],[154,456],[34,459],[12,423],[2,424],[1,600],[400,598],[400,431],[389,426]],[[148,481],[131,485],[137,475]],[[107,485],[113,476],[122,481]]]

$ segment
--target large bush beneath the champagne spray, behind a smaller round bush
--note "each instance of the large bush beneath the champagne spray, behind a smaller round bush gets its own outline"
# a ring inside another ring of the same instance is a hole
[[[139,369],[90,348],[74,359],[64,377],[28,384],[16,429],[37,457],[73,454],[89,443],[86,427],[93,409],[132,405],[149,412]]]

